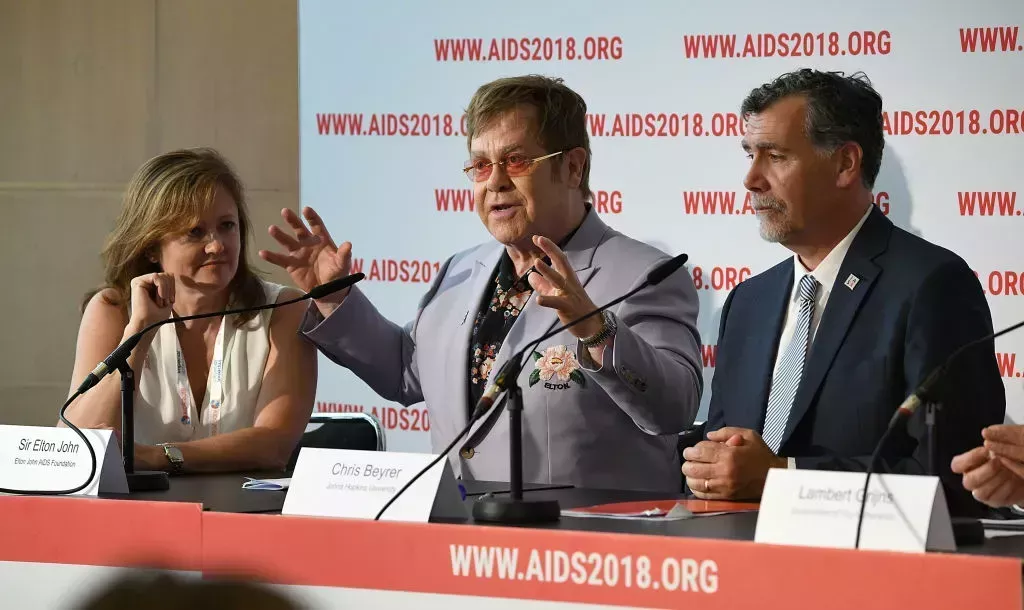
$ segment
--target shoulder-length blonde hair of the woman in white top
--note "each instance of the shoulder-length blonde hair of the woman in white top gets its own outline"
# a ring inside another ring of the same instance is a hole
[[[124,204],[114,231],[103,246],[103,286],[85,296],[89,300],[102,290],[113,290],[111,305],[127,307],[133,277],[161,270],[153,261],[160,241],[187,231],[213,204],[217,187],[227,190],[239,208],[239,267],[228,286],[232,307],[261,305],[266,296],[255,270],[249,265],[248,243],[252,231],[242,181],[227,161],[212,148],[186,148],[165,152],[145,162],[128,182]],[[255,312],[236,319],[241,325]]]

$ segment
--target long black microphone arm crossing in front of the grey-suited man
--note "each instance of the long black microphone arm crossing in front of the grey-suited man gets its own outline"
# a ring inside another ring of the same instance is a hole
[[[672,258],[672,259],[669,259],[669,260],[665,261],[664,263],[662,263],[658,266],[656,266],[653,269],[651,269],[650,272],[647,273],[647,277],[644,278],[644,280],[637,288],[631,290],[630,292],[626,293],[622,297],[618,297],[617,299],[609,301],[608,303],[605,303],[604,305],[602,305],[602,306],[594,309],[593,311],[591,311],[591,312],[589,312],[589,313],[587,313],[585,315],[582,315],[582,316],[580,316],[580,317],[571,320],[570,322],[568,322],[566,324],[558,326],[557,329],[555,329],[553,331],[550,331],[548,333],[545,333],[544,335],[541,336],[540,339],[534,341],[525,349],[521,349],[518,352],[516,352],[498,371],[498,374],[495,376],[495,383],[489,388],[486,389],[486,391],[483,393],[482,396],[480,396],[480,399],[477,401],[476,406],[473,408],[473,412],[470,416],[469,422],[466,424],[466,427],[463,428],[462,431],[459,432],[459,434],[457,434],[454,439],[452,439],[452,442],[449,443],[447,447],[445,447],[440,453],[438,453],[437,456],[434,457],[434,460],[432,460],[430,462],[430,464],[428,464],[426,467],[424,467],[423,470],[421,470],[420,472],[416,473],[416,475],[412,479],[410,479],[408,483],[406,483],[404,485],[402,485],[402,487],[400,489],[398,489],[398,491],[396,491],[395,494],[392,495],[389,500],[387,500],[387,503],[384,505],[384,507],[381,508],[381,510],[377,513],[377,516],[374,517],[374,521],[379,521],[380,518],[381,518],[381,516],[384,515],[384,512],[387,511],[388,508],[390,508],[391,505],[394,504],[394,502],[396,499],[398,499],[398,496],[400,496],[402,493],[404,493],[404,491],[407,489],[409,489],[413,485],[413,483],[415,483],[417,481],[417,479],[419,479],[421,476],[423,476],[424,473],[426,473],[427,471],[429,471],[431,468],[434,467],[435,464],[437,464],[441,459],[443,459],[447,454],[447,452],[451,451],[453,447],[455,447],[455,445],[459,442],[459,440],[462,439],[462,437],[466,436],[466,434],[469,433],[469,431],[470,431],[470,429],[472,429],[473,425],[476,424],[476,422],[481,417],[483,417],[487,412],[487,410],[490,409],[492,406],[494,406],[495,401],[498,399],[498,395],[501,394],[502,391],[505,390],[509,386],[509,380],[514,380],[516,377],[518,377],[519,371],[522,367],[521,360],[522,360],[523,354],[527,353],[528,351],[532,350],[536,346],[540,345],[542,341],[544,341],[546,339],[550,339],[551,337],[554,337],[555,335],[561,333],[562,331],[564,331],[564,330],[566,330],[566,329],[568,329],[570,326],[574,326],[575,324],[582,322],[583,320],[588,319],[589,317],[591,317],[593,315],[597,315],[598,313],[601,313],[602,311],[604,311],[605,309],[608,309],[609,307],[612,307],[614,305],[617,305],[618,303],[622,303],[623,301],[625,301],[626,299],[632,297],[633,295],[637,294],[638,292],[642,291],[643,289],[645,289],[645,288],[647,288],[649,286],[656,286],[656,285],[660,284],[666,278],[668,278],[670,275],[672,275],[677,270],[679,270],[680,267],[682,267],[684,264],[686,264],[686,260],[687,259],[688,259],[688,256],[686,254],[680,254],[679,256],[676,256],[675,258]],[[494,425],[494,421],[497,419],[497,413],[499,413],[499,412],[501,412],[501,402],[500,401],[499,401],[499,408],[497,408],[495,410],[496,415],[495,415],[495,417],[492,418],[493,421],[490,423],[490,426]],[[489,427],[488,427],[488,430],[489,430]],[[483,440],[484,436],[486,436],[486,433],[484,433],[482,436],[480,436],[480,438],[477,439],[476,443],[473,443],[473,446],[475,446],[476,444],[479,444],[479,441]],[[463,447],[460,450],[460,453],[463,454],[463,456],[466,456],[467,451],[472,451],[473,450],[473,448],[470,447],[469,444],[470,443],[467,443],[467,446]],[[472,456],[472,453],[469,453],[469,455]],[[521,460],[520,460],[520,462],[521,462]],[[516,485],[514,485],[514,484],[512,485],[512,487],[515,487],[515,486]],[[520,483],[519,486],[521,487],[521,483]],[[519,491],[518,492],[518,496],[521,498],[521,494],[522,494],[521,488],[518,491]],[[515,495],[516,495],[515,489],[513,489],[513,496],[515,496]]]

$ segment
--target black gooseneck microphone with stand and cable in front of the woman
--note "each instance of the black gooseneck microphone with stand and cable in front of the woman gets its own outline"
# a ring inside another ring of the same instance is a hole
[[[134,412],[133,412],[133,400],[134,400],[134,378],[135,375],[132,369],[128,366],[128,356],[131,355],[131,350],[138,345],[139,340],[148,333],[150,331],[161,326],[163,324],[169,324],[172,322],[183,322],[191,319],[201,319],[205,317],[217,317],[222,315],[231,315],[236,313],[247,313],[249,311],[261,311],[263,309],[274,309],[278,307],[284,307],[285,305],[291,305],[293,303],[298,303],[299,301],[305,301],[307,299],[322,299],[330,294],[336,293],[340,290],[351,287],[355,282],[362,279],[365,275],[362,273],[353,273],[352,275],[347,275],[345,277],[339,277],[338,279],[333,279],[322,284],[308,293],[296,297],[294,299],[289,299],[288,301],[282,301],[281,303],[267,303],[265,305],[257,305],[255,307],[242,307],[239,309],[228,309],[225,311],[215,311],[212,313],[198,313],[196,315],[186,315],[184,317],[171,317],[167,319],[162,319],[156,321],[138,333],[135,333],[121,345],[119,345],[109,356],[103,358],[103,361],[96,365],[95,368],[86,376],[85,380],[78,387],[74,394],[63,403],[60,407],[58,413],[58,419],[68,428],[75,432],[85,443],[85,447],[89,450],[89,459],[91,462],[91,468],[89,471],[89,477],[84,483],[72,487],[70,489],[43,489],[43,490],[27,490],[27,489],[5,489],[0,488],[0,493],[14,493],[14,494],[31,494],[31,495],[67,495],[70,493],[75,493],[88,487],[93,478],[96,476],[96,452],[92,448],[92,444],[85,437],[82,431],[70,422],[65,413],[71,403],[87,392],[90,388],[99,383],[103,377],[110,375],[114,371],[121,372],[121,452],[122,459],[124,460],[125,476],[128,479],[128,489],[129,491],[139,491],[139,490],[154,490],[154,489],[167,489],[169,484],[167,481],[167,473],[164,472],[135,472],[135,425],[134,425]]]

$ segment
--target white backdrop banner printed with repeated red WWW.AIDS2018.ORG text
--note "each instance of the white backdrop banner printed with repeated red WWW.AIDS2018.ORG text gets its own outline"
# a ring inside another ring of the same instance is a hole
[[[876,204],[968,261],[996,329],[1024,318],[1022,2],[299,7],[301,203],[352,243],[360,288],[396,323],[413,319],[449,256],[490,238],[461,171],[473,92],[501,77],[560,77],[588,104],[597,212],[689,254],[703,418],[729,290],[790,256],[758,235],[739,104],[800,68],[868,76],[885,103]],[[995,347],[1008,417],[1024,421],[1024,333]],[[373,412],[389,448],[429,450],[425,405],[384,400],[323,356],[316,409]]]

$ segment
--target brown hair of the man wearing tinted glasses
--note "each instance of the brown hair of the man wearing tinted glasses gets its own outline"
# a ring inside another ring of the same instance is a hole
[[[565,86],[562,79],[527,75],[498,79],[482,85],[466,108],[466,141],[487,123],[519,104],[537,108],[537,137],[549,152],[583,148],[580,190],[584,200],[590,192],[590,136],[587,134],[587,102]],[[555,167],[553,165],[553,167]]]

